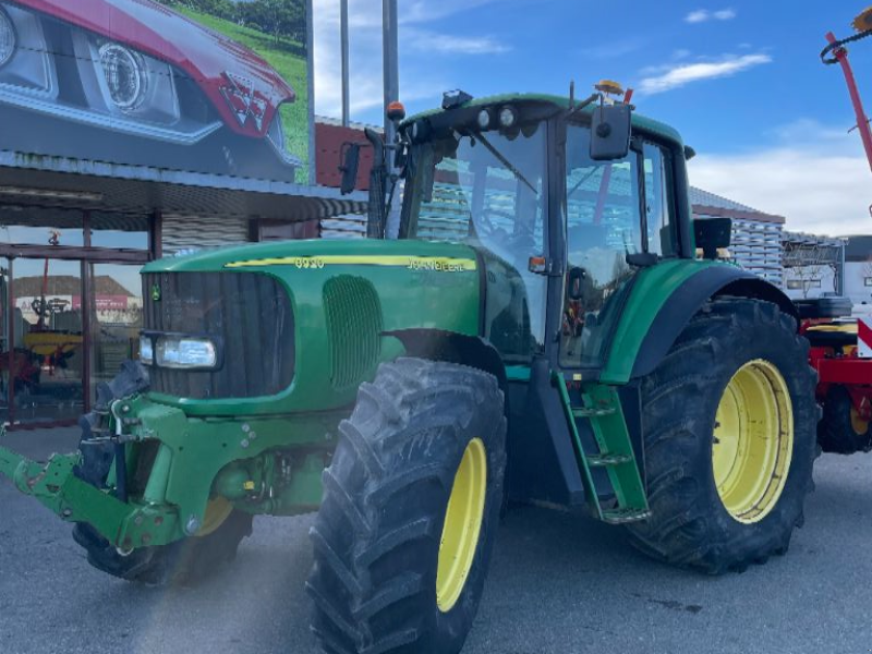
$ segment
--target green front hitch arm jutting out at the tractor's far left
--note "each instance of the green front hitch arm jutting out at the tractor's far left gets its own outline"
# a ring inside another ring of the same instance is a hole
[[[0,446],[0,474],[63,520],[87,522],[116,546],[129,544],[128,532],[138,507],[78,479],[74,473],[78,459],[77,452],[52,455],[48,463],[41,464]]]

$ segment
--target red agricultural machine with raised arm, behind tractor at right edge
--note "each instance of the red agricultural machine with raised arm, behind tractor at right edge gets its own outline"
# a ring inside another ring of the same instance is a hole
[[[872,36],[872,7],[851,23],[855,34],[837,39],[826,34],[821,60],[838,64],[857,118],[857,131],[872,169],[872,128],[863,108],[857,80],[848,61],[848,44]],[[872,206],[870,206],[872,214]],[[802,332],[811,343],[809,361],[818,371],[818,401],[823,417],[818,440],[824,451],[852,453],[872,449],[872,316],[852,318],[847,298],[822,298],[797,302],[803,318]]]

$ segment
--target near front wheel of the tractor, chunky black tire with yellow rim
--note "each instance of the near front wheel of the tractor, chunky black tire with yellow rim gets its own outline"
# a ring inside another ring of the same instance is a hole
[[[502,392],[487,373],[400,359],[363,384],[311,535],[313,631],[331,654],[455,654],[502,498]]]

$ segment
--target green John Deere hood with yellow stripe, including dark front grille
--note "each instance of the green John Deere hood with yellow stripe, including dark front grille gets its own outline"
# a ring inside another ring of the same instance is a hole
[[[472,247],[425,241],[283,241],[153,262],[145,331],[208,338],[222,363],[155,361],[149,397],[190,416],[349,407],[403,354],[398,332],[481,335],[484,279]]]

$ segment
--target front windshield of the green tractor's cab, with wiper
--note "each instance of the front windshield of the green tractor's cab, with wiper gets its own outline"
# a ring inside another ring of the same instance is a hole
[[[506,284],[489,292],[486,336],[507,360],[526,361],[544,342],[545,277],[530,271],[530,257],[545,254],[546,133],[543,122],[452,131],[410,152],[400,238],[469,243],[493,255],[488,269],[502,269],[495,278]]]

